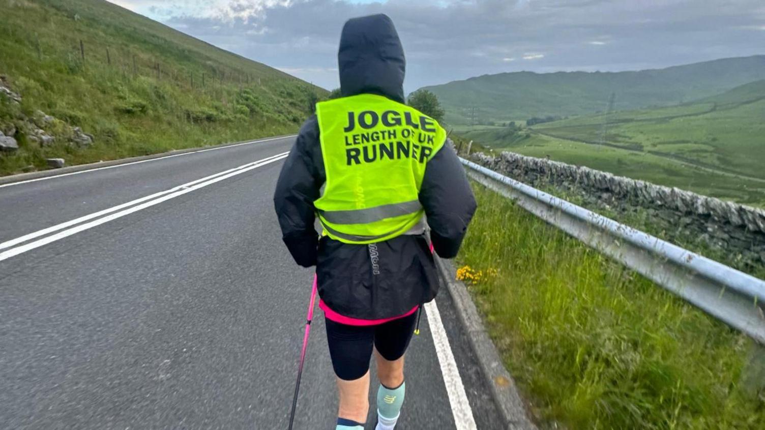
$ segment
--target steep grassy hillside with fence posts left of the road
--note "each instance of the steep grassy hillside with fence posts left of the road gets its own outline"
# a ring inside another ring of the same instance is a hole
[[[326,94],[103,0],[0,10],[0,174],[295,132]]]

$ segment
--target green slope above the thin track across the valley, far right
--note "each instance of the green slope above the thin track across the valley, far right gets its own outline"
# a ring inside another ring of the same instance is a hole
[[[607,142],[765,179],[763,119],[765,80],[760,80],[699,103],[584,116],[534,129],[558,138]]]

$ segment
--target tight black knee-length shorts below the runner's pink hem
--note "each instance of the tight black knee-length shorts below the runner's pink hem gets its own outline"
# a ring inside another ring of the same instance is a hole
[[[385,324],[355,326],[324,318],[327,344],[335,374],[341,380],[357,380],[369,370],[372,345],[382,358],[399,360],[409,347],[415,331],[417,312]]]

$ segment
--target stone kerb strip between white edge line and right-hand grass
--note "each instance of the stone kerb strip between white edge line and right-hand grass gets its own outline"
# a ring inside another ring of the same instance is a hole
[[[513,376],[505,369],[500,353],[491,341],[483,321],[478,314],[467,287],[455,276],[456,271],[451,262],[435,257],[438,275],[446,284],[449,295],[457,308],[459,321],[464,328],[470,347],[476,354],[481,374],[489,386],[491,396],[507,429],[536,430],[536,425],[529,419],[526,405],[516,388]]]

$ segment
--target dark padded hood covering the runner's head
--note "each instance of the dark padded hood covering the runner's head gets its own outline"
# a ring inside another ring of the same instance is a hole
[[[387,15],[348,20],[337,53],[340,93],[374,93],[405,103],[406,59],[399,34]]]

